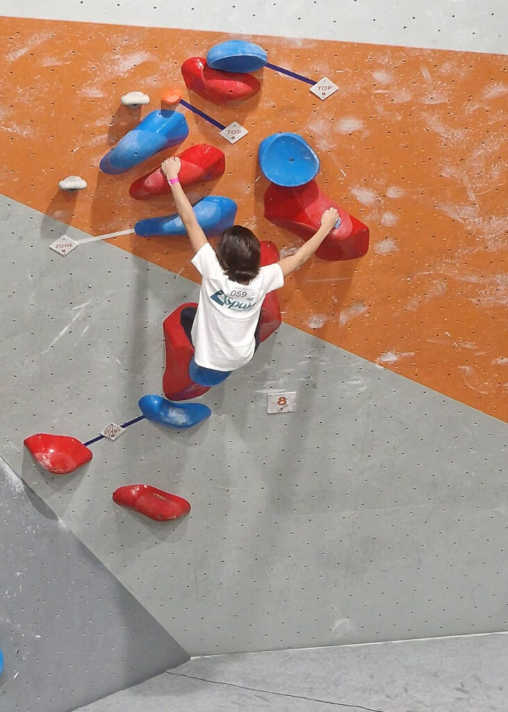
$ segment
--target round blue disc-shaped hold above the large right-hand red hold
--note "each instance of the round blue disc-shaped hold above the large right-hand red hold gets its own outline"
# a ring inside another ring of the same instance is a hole
[[[276,185],[294,188],[317,176],[319,158],[299,134],[277,133],[260,143],[263,174]]]

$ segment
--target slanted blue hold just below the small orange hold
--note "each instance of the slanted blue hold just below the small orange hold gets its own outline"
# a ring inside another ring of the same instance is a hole
[[[100,169],[107,174],[124,173],[187,136],[189,126],[183,114],[166,109],[152,111],[102,158]]]

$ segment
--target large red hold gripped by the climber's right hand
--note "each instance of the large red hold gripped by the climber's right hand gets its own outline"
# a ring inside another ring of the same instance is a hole
[[[308,240],[319,229],[321,216],[337,208],[341,219],[316,252],[323,260],[351,260],[369,249],[369,228],[329,199],[315,181],[295,188],[270,183],[265,193],[265,218],[274,225]]]

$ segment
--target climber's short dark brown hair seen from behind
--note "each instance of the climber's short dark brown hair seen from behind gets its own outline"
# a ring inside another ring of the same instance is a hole
[[[217,245],[218,261],[234,282],[246,284],[259,272],[261,246],[253,231],[242,225],[227,227]]]

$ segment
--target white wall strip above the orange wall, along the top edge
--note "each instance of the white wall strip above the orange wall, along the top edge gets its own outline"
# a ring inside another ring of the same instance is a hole
[[[502,0],[3,0],[4,15],[505,52]]]

